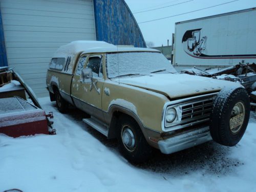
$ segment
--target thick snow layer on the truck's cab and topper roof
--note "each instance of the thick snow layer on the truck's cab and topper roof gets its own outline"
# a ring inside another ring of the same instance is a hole
[[[67,57],[78,53],[105,53],[105,52],[130,52],[130,51],[151,51],[160,52],[156,49],[119,47],[105,41],[78,40],[57,49],[54,57]]]

